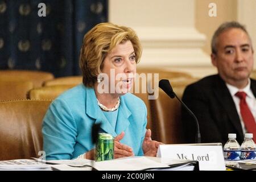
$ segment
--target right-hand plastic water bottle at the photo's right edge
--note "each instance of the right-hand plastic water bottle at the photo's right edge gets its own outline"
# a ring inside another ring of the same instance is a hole
[[[252,133],[246,133],[245,134],[245,140],[241,144],[241,160],[246,159],[254,159],[255,158],[255,151],[256,150],[256,144],[253,141],[253,134]]]

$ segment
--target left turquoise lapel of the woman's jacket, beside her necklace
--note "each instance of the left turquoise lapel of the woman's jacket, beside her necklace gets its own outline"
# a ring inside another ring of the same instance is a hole
[[[112,125],[109,123],[108,119],[106,119],[104,113],[101,111],[100,107],[96,101],[96,94],[93,88],[86,87],[86,114],[89,117],[93,118],[94,123],[101,123],[101,129],[105,133],[112,134],[115,137],[117,134],[113,129]],[[119,115],[119,114],[118,114]]]

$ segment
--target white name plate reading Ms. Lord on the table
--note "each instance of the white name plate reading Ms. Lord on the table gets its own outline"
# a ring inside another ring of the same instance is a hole
[[[221,145],[161,144],[158,147],[160,158],[197,160],[203,171],[224,171],[225,162]]]

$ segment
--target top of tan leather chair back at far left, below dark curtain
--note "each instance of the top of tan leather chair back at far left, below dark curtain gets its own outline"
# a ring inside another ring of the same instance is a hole
[[[46,80],[52,80],[52,73],[41,71],[24,71],[24,70],[1,70],[0,80],[3,81],[31,81],[34,88],[42,86]]]

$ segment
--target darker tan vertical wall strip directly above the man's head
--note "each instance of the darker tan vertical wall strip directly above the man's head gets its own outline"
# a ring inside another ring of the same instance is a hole
[[[237,20],[237,0],[195,0],[195,27],[207,36],[203,50],[210,55],[210,40],[221,23]],[[210,17],[209,3],[216,3],[217,16]]]

